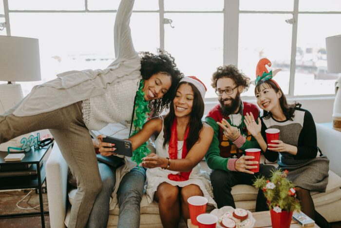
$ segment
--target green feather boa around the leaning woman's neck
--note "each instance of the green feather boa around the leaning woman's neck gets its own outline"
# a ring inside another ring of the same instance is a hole
[[[145,94],[142,90],[143,80],[141,80],[140,86],[136,92],[135,119],[133,120],[135,129],[130,136],[137,134],[142,129],[143,124],[147,121],[147,114],[150,113],[148,102],[145,101]],[[146,157],[150,152],[151,150],[147,147],[147,142],[145,142],[133,151],[132,160],[139,165],[142,162],[142,158]]]

